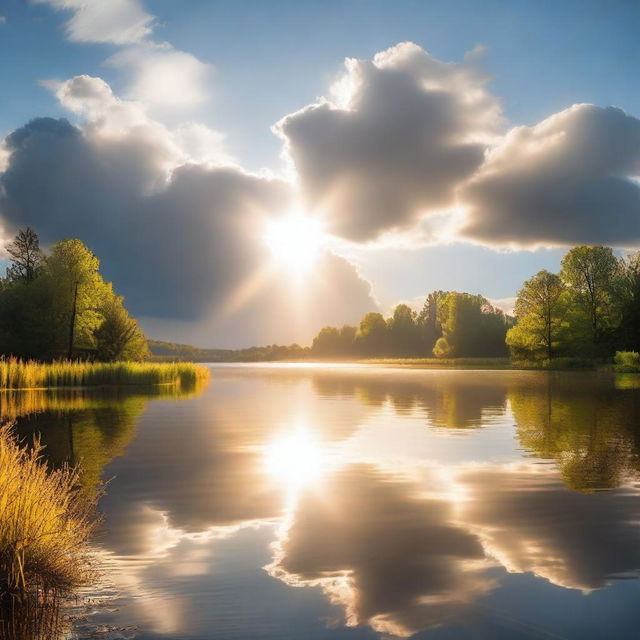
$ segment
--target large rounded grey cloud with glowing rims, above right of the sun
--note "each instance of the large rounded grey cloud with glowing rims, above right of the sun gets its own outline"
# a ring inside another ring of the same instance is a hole
[[[276,125],[308,206],[334,233],[370,240],[454,204],[501,120],[473,58],[444,63],[405,42],[347,59],[332,100]]]

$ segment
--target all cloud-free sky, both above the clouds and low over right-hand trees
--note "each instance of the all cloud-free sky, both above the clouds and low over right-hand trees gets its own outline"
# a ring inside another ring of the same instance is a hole
[[[220,132],[226,152],[248,171],[285,169],[282,139],[270,127],[327,96],[328,87],[344,73],[346,57],[370,60],[404,41],[437,60],[459,64],[465,53],[483,47],[482,68],[491,78],[487,91],[502,107],[505,131],[534,126],[584,102],[640,115],[640,3],[635,0],[123,3],[153,16],[147,39],[170,43],[171,51],[189,54],[204,63],[203,69],[207,65],[198,76],[204,97],[176,108],[152,100],[148,113],[169,127],[188,121]],[[0,24],[3,135],[40,116],[82,122],[86,114],[71,113],[50,86],[42,86],[45,80],[63,82],[86,74],[102,78],[120,98],[142,95],[135,93],[132,64],[114,64],[114,56],[129,51],[131,43],[74,41],[66,31],[74,11],[57,10],[60,4],[64,0],[0,1],[5,18]],[[147,64],[146,58],[140,64]],[[567,225],[575,227],[576,219]],[[591,241],[593,236],[584,237]],[[577,241],[582,238],[576,234]],[[539,268],[557,270],[563,253],[530,251],[533,245],[513,251],[513,242],[511,249],[482,244],[456,239],[375,251],[356,245],[344,255],[386,308],[433,288],[510,297]]]

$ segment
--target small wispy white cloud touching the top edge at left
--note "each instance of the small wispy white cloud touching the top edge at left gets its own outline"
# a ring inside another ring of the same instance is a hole
[[[34,0],[54,9],[73,12],[66,23],[67,37],[74,42],[139,42],[151,33],[153,16],[139,0]]]

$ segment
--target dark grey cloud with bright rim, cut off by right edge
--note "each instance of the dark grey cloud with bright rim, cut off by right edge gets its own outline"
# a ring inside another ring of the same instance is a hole
[[[463,236],[489,245],[640,242],[640,120],[577,104],[516,127],[461,191]]]

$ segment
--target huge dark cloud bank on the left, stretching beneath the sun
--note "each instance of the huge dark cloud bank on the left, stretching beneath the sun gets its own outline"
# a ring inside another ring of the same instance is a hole
[[[160,325],[167,337],[226,345],[308,340],[323,323],[344,321],[345,308],[355,320],[374,306],[353,267],[326,254],[324,281],[308,279],[308,316],[296,331],[291,287],[281,272],[269,272],[262,239],[267,221],[291,206],[286,183],[188,163],[184,128],[149,119],[100,79],[75,78],[57,95],[88,122],[78,128],[42,118],[6,138],[4,222],[31,225],[47,243],[80,237],[134,313],[183,321]]]

